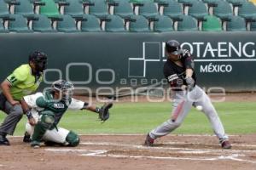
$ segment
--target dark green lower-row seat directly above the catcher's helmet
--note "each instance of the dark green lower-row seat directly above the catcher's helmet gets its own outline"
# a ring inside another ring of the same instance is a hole
[[[57,21],[56,29],[61,32],[79,32],[76,21],[68,14],[61,15],[62,20]]]

